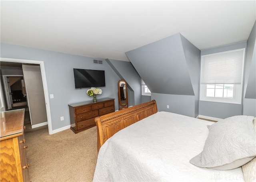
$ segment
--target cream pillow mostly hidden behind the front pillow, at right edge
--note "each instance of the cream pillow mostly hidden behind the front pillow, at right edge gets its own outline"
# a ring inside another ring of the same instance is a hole
[[[256,131],[256,117],[253,119],[254,129]],[[256,182],[256,157],[242,166],[244,180],[246,182]]]

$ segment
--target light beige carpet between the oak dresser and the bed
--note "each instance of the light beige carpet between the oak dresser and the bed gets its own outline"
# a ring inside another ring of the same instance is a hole
[[[67,129],[49,135],[48,126],[31,129],[29,122],[25,121],[25,138],[31,182],[92,181],[97,160],[96,127],[77,134]]]

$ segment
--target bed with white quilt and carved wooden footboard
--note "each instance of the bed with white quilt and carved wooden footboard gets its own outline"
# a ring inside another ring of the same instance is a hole
[[[248,121],[245,122],[250,123],[253,117],[246,119]],[[216,129],[215,123],[170,112],[158,112],[155,100],[96,117],[95,122],[98,159],[94,182],[255,180],[253,170],[256,165],[256,144],[252,123],[247,124],[250,131],[243,132],[246,138],[252,134],[250,150],[246,153],[248,156],[243,158],[247,161],[242,161],[242,164],[247,165],[243,173],[242,167],[216,170],[192,164],[192,160],[198,160],[201,154],[203,156],[210,133]]]

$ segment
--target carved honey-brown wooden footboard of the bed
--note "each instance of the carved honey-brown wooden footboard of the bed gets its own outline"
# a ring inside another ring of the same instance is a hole
[[[125,110],[96,117],[98,151],[105,141],[116,132],[155,113],[157,113],[157,105],[156,101],[152,100]]]

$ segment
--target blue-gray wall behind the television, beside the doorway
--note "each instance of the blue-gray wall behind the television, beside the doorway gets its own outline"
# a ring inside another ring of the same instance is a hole
[[[44,61],[48,93],[50,99],[52,129],[70,125],[68,104],[92,100],[85,89],[75,89],[73,68],[105,70],[106,86],[101,87],[102,95],[98,98],[115,98],[115,110],[118,110],[117,83],[120,80],[114,70],[103,60],[103,65],[92,63],[90,57],[70,55],[42,49],[33,49],[18,45],[1,43],[1,57]],[[60,117],[64,116],[64,121]]]

